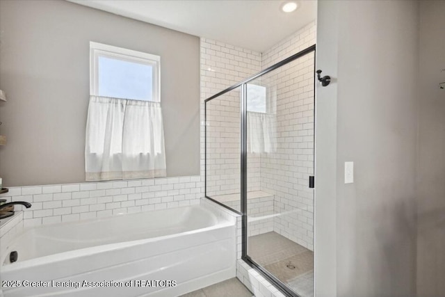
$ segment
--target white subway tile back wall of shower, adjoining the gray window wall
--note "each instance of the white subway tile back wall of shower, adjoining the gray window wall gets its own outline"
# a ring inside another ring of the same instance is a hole
[[[204,100],[261,70],[261,54],[201,38],[201,172],[204,175]],[[240,193],[239,88],[207,106],[207,195]],[[249,191],[259,190],[259,154],[250,155]],[[240,211],[241,209],[236,209]]]

